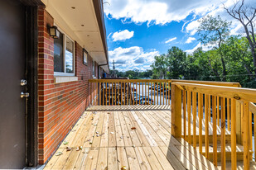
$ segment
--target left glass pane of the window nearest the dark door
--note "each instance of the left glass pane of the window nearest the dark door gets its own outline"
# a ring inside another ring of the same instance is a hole
[[[54,39],[54,71],[64,72],[63,67],[63,34],[59,39]]]

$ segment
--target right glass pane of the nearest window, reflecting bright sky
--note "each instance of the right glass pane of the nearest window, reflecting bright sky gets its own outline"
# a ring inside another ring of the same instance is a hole
[[[74,43],[68,37],[65,40],[65,73],[74,73]]]

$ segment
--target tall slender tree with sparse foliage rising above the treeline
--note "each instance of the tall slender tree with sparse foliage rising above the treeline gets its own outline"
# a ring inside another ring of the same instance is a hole
[[[229,26],[231,22],[222,20],[220,16],[212,17],[206,16],[200,20],[200,26],[197,33],[200,35],[200,41],[204,45],[218,45],[220,61],[222,64],[223,81],[226,81],[226,66],[225,58],[223,56],[221,45],[229,36]],[[209,60],[210,63],[210,60]]]

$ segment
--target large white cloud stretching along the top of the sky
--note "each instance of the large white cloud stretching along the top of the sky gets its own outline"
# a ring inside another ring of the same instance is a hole
[[[147,22],[147,25],[164,25],[171,21],[181,21],[188,15],[204,15],[219,7],[221,1],[216,0],[108,0],[104,12],[108,17],[133,21]]]

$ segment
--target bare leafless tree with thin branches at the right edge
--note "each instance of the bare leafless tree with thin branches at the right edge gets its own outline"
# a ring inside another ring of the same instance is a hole
[[[249,47],[254,59],[254,77],[256,78],[256,40],[254,34],[256,7],[246,7],[244,5],[244,0],[240,0],[234,2],[233,7],[228,9],[224,6],[224,8],[231,17],[238,20],[244,27],[246,38],[249,41]]]

